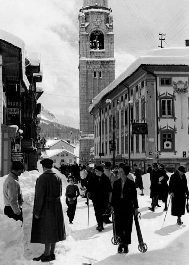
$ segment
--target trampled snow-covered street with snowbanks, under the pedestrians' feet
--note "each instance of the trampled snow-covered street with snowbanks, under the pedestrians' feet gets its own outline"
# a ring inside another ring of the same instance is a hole
[[[168,175],[170,176],[171,174],[168,173]],[[186,175],[189,183],[189,173],[186,173]],[[25,172],[20,177],[20,184],[25,200],[23,228],[21,228],[20,221],[14,222],[13,219],[9,219],[3,215],[2,182],[4,177],[0,179],[0,264],[2,265],[40,264],[40,262],[32,261],[32,258],[43,253],[44,245],[30,243],[33,196],[37,177],[37,171]],[[56,244],[56,260],[49,262],[49,264],[189,264],[187,254],[187,249],[189,247],[189,214],[185,212],[185,215],[182,217],[184,223],[178,226],[176,224],[177,218],[170,214],[170,203],[167,217],[162,228],[165,216],[165,212],[163,211],[164,204],[159,201],[161,207],[156,207],[154,213],[148,210],[148,206],[150,206],[151,203],[151,199],[149,198],[149,174],[143,175],[145,195],[138,195],[139,210],[141,211],[141,220],[139,220],[139,223],[144,242],[148,246],[148,251],[146,253],[140,253],[138,250],[138,239],[134,221],[129,253],[117,253],[117,246],[111,243],[111,238],[113,237],[112,225],[105,224],[104,231],[96,231],[97,224],[91,201],[89,205],[89,229],[87,229],[88,207],[85,204],[86,199],[81,198],[81,196],[78,198],[73,224],[69,224],[66,216],[64,196],[67,182],[66,177],[62,176],[62,179],[64,187],[62,203],[67,239]],[[140,191],[137,191],[138,194],[140,194]]]

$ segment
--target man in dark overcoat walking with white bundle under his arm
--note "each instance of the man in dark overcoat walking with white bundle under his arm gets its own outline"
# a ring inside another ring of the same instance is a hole
[[[158,168],[158,164],[155,162],[150,174],[150,180],[150,198],[152,198],[152,206],[148,207],[148,209],[154,212],[160,194],[165,193],[166,183],[169,177],[164,170]]]

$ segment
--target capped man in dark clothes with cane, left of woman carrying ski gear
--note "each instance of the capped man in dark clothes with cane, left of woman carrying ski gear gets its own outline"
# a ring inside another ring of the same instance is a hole
[[[90,178],[87,187],[87,198],[92,200],[98,224],[96,229],[100,232],[104,230],[104,214],[111,198],[112,186],[102,166],[95,167],[94,172],[96,175]]]

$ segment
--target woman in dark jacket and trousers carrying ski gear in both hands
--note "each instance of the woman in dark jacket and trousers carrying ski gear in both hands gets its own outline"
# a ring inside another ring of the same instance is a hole
[[[138,215],[137,191],[134,181],[127,176],[129,166],[120,168],[121,177],[115,180],[112,190],[111,206],[115,214],[116,235],[121,239],[118,253],[128,253],[128,245],[131,244],[131,232],[133,226],[133,214]]]

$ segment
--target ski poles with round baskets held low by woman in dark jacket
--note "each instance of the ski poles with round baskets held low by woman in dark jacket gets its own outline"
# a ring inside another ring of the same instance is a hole
[[[113,237],[111,239],[112,244],[113,245],[118,245],[120,243],[120,237],[118,235],[116,235],[116,230],[115,230],[115,215],[114,212],[111,212],[112,214],[112,224],[113,224]],[[138,211],[138,216],[141,219],[141,213]],[[136,232],[137,232],[137,237],[139,240],[139,245],[138,245],[138,249],[140,252],[144,253],[147,251],[148,247],[146,245],[146,243],[143,242],[143,238],[142,238],[142,233],[141,233],[141,229],[140,229],[140,225],[139,225],[139,219],[138,216],[136,216],[134,214],[134,221],[135,221],[135,226],[136,226]]]

